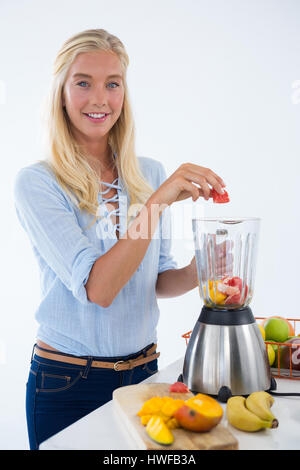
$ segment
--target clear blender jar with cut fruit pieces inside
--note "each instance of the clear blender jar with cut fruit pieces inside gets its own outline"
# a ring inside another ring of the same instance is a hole
[[[251,302],[259,218],[193,219],[200,297],[207,307],[239,309]]]

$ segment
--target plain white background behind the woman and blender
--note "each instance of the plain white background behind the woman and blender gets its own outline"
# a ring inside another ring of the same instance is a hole
[[[59,48],[90,28],[107,29],[127,48],[138,155],[162,161],[168,175],[193,162],[223,177],[232,202],[205,203],[205,215],[262,218],[255,316],[300,318],[300,2],[2,0],[2,449],[28,446],[25,383],[39,303],[36,261],[13,205],[14,176],[44,157],[41,107]],[[172,207],[174,229],[181,206]],[[179,267],[193,256],[188,233],[173,242]],[[164,367],[184,354],[181,335],[201,302],[195,289],[159,304]]]

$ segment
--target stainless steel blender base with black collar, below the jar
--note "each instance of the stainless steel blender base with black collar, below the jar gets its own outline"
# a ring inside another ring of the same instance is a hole
[[[271,387],[265,343],[249,307],[203,307],[189,340],[183,382],[194,393],[249,395]]]

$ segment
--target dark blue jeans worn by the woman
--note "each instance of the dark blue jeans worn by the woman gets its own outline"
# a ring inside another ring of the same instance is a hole
[[[126,357],[93,357],[105,362],[126,361],[142,351]],[[79,366],[45,359],[37,354],[31,359],[26,386],[26,417],[31,450],[53,434],[104,405],[112,399],[116,388],[137,384],[157,372],[157,359],[132,370],[115,371]]]

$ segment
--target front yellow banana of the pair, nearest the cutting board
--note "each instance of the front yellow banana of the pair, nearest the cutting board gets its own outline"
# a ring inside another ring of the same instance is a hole
[[[244,397],[231,397],[227,401],[226,416],[229,423],[242,431],[259,431],[263,428],[271,428],[272,420],[263,420],[246,408]]]

